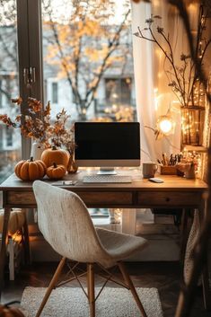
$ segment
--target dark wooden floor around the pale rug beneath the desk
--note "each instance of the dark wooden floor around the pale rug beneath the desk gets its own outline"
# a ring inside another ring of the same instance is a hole
[[[25,286],[48,286],[56,267],[57,263],[48,262],[34,263],[28,268],[22,268],[14,281],[6,280],[2,302],[21,300]],[[180,289],[180,265],[177,262],[130,262],[127,263],[127,269],[136,286],[158,288],[164,317],[173,317]],[[100,280],[97,283],[99,284]],[[211,312],[204,310],[202,289],[199,286],[190,316],[211,316]]]

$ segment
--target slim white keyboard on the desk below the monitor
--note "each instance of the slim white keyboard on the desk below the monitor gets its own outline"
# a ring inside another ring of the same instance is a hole
[[[96,183],[115,183],[115,182],[131,182],[130,176],[120,175],[88,175],[84,176],[83,182],[96,182]]]

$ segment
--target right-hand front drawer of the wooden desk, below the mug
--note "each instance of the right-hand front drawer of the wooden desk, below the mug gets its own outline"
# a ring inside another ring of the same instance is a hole
[[[139,192],[138,205],[143,207],[198,207],[201,194],[198,192]]]

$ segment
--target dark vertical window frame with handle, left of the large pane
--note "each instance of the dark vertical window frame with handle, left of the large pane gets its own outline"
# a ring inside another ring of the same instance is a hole
[[[43,103],[43,66],[41,46],[41,0],[16,0],[19,62],[19,87],[22,96],[22,114],[28,109],[28,97]],[[24,84],[24,68],[35,67],[35,83]],[[31,153],[31,139],[22,136],[22,159]]]

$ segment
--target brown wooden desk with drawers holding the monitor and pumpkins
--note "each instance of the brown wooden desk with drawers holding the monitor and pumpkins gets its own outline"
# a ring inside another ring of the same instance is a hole
[[[85,172],[66,175],[65,181],[76,181],[74,186],[62,185],[61,188],[77,193],[87,207],[167,207],[167,208],[198,208],[204,211],[203,195],[207,184],[200,180],[186,180],[178,176],[164,176],[163,183],[153,183],[142,180],[140,173],[127,171],[132,174],[132,183],[124,184],[84,184],[82,179]],[[48,181],[53,183],[54,181]],[[0,286],[2,290],[4,278],[5,239],[8,219],[12,207],[36,207],[32,191],[32,182],[20,181],[13,174],[0,185],[3,190],[4,229],[0,253]],[[208,297],[205,295],[207,302]]]

